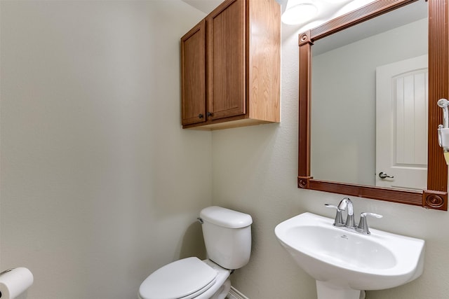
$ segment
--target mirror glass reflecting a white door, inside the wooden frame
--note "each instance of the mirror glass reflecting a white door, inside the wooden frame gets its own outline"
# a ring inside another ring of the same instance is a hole
[[[314,42],[314,179],[426,189],[427,36],[427,2],[417,1]],[[385,71],[404,61],[409,69]]]

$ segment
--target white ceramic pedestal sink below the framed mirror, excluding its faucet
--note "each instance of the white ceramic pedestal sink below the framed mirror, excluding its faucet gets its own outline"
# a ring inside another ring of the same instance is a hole
[[[422,274],[424,240],[373,228],[371,235],[361,235],[333,222],[304,213],[274,229],[296,263],[316,279],[319,299],[363,298],[361,290],[401,286]]]

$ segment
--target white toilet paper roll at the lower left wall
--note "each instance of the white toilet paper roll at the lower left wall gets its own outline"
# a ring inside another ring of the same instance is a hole
[[[0,275],[0,298],[13,299],[33,284],[33,274],[25,267],[17,267]]]

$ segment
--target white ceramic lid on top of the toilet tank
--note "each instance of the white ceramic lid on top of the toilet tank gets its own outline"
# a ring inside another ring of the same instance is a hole
[[[225,228],[245,228],[253,223],[253,218],[248,214],[217,206],[202,209],[199,216],[203,221]]]

